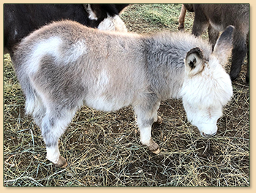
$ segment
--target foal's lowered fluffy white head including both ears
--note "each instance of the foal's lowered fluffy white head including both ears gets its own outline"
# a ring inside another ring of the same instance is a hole
[[[233,26],[225,29],[210,56],[203,56],[200,48],[193,48],[184,59],[185,78],[181,89],[184,109],[188,120],[204,137],[217,133],[222,107],[233,95],[230,77],[224,69],[232,50],[233,29]]]

